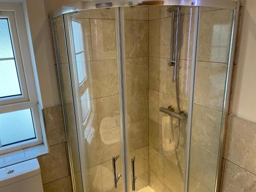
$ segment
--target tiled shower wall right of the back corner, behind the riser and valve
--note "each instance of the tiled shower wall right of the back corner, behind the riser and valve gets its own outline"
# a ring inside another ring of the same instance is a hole
[[[152,8],[152,9],[151,9]],[[168,7],[150,7],[149,44],[149,156],[150,186],[156,191],[183,191],[185,125],[178,150],[174,150],[169,117],[159,107],[173,104],[177,109],[173,67],[168,67],[172,18]],[[232,12],[202,9],[194,93],[190,156],[190,191],[214,191],[221,129],[221,111],[229,51]],[[183,13],[180,52],[181,110],[187,111],[189,71],[193,38],[187,10]],[[225,35],[223,35],[225,34]],[[190,47],[187,45],[190,35]]]

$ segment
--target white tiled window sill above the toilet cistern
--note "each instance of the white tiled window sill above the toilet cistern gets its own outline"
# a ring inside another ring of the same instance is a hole
[[[15,152],[0,155],[0,168],[34,159],[38,156],[48,154],[48,147],[42,143],[24,148]]]

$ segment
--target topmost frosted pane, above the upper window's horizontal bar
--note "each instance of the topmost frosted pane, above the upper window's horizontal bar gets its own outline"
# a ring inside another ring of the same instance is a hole
[[[0,19],[0,58],[14,57],[8,20]]]

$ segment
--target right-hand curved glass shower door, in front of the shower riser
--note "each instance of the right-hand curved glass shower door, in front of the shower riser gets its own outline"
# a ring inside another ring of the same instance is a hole
[[[122,11],[129,185],[133,186],[130,161],[135,157],[136,190],[182,192],[186,182],[187,120],[196,8],[141,6],[124,7]],[[175,65],[178,78],[174,82]],[[180,120],[167,114],[170,106],[173,114],[180,115],[183,111],[186,117]],[[160,108],[166,111],[161,112]]]

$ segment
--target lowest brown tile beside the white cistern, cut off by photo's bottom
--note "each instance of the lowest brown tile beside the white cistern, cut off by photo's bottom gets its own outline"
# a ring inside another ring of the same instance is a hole
[[[44,184],[45,192],[72,192],[70,176]]]

